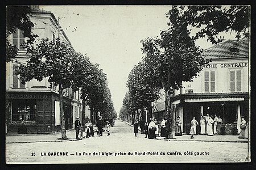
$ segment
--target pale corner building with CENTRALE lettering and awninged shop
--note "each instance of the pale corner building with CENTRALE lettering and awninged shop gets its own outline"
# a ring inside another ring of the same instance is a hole
[[[180,116],[183,133],[188,134],[193,117],[200,122],[201,113],[216,114],[223,120],[217,134],[238,134],[240,117],[247,122],[249,118],[249,40],[221,42],[204,50],[203,56],[209,64],[171,96],[172,120]]]

